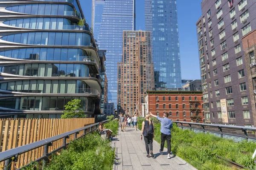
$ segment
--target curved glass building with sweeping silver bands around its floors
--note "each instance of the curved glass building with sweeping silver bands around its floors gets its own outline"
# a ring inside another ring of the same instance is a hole
[[[100,113],[105,56],[99,56],[79,0],[0,2],[0,116],[59,118],[81,99]]]

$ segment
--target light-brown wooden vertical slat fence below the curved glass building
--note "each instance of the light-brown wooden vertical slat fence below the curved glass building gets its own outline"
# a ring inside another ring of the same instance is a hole
[[[76,130],[78,128],[91,125],[94,118],[74,118],[74,119],[0,119],[0,152],[19,147],[32,142],[40,141],[61,133]],[[77,134],[81,136],[82,132]],[[74,135],[67,139],[69,142],[74,139]],[[62,146],[62,139],[53,142],[49,147],[49,152]],[[39,147],[18,156],[17,162],[12,162],[12,170],[28,164],[43,156],[44,147]],[[21,161],[22,160],[22,161]],[[4,162],[0,163],[0,167]]]

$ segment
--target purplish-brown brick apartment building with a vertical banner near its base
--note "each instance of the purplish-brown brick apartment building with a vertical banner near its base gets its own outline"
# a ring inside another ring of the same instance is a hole
[[[256,29],[255,0],[203,0],[196,23],[207,122],[253,125],[242,37]],[[225,119],[224,119],[225,118]]]

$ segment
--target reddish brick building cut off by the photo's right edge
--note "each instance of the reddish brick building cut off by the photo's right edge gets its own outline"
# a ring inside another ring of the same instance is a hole
[[[251,101],[251,114],[246,114],[248,119],[254,122],[254,124],[247,124],[246,126],[255,126],[256,122],[256,30],[252,31],[242,38],[244,48],[245,66],[247,69],[247,96]],[[244,113],[245,114],[245,113]],[[250,117],[252,116],[252,117]]]

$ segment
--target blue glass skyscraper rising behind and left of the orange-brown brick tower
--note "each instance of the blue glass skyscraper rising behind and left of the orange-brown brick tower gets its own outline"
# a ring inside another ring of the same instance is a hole
[[[108,101],[117,105],[117,63],[122,62],[122,33],[135,30],[135,0],[93,0],[92,26],[100,50],[106,50]]]

